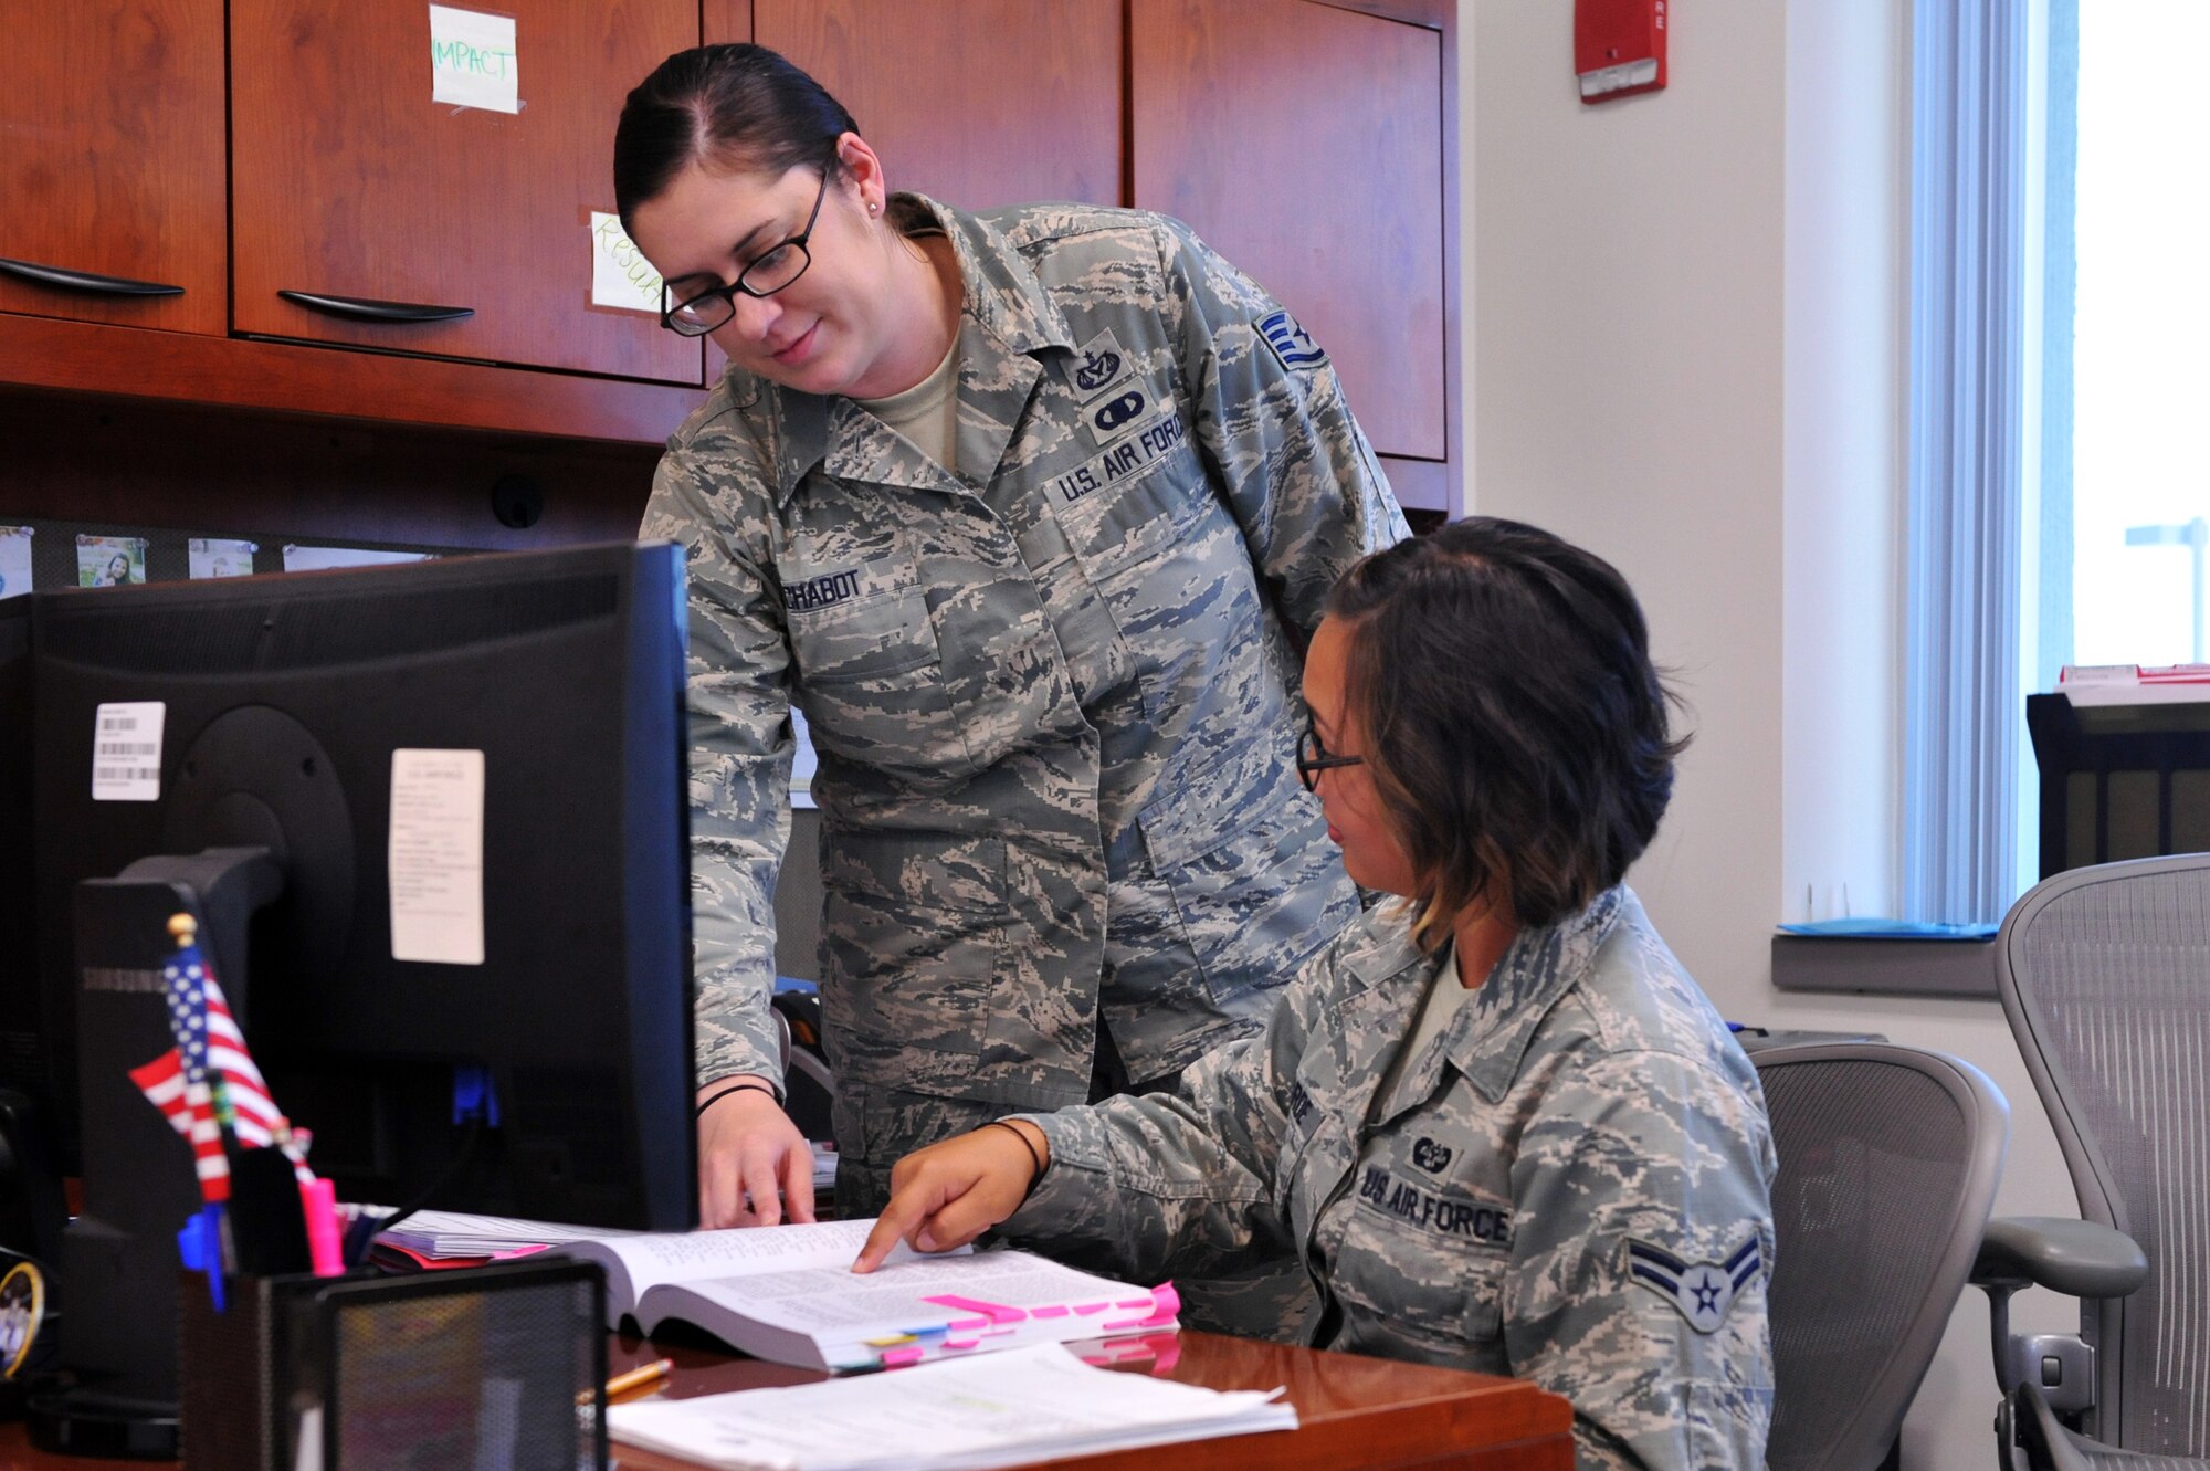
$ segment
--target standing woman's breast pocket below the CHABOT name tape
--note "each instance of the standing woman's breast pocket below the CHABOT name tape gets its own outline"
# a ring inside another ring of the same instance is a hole
[[[944,786],[972,771],[944,689],[944,656],[919,588],[791,612],[798,705],[827,762],[849,762],[908,786]]]

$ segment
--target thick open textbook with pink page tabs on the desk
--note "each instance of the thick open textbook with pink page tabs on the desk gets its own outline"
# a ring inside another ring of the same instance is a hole
[[[422,1219],[431,1217],[431,1219]],[[851,1272],[875,1226],[820,1221],[681,1235],[586,1232],[422,1213],[415,1241],[499,1250],[528,1239],[606,1268],[610,1323],[648,1334],[674,1319],[729,1347],[811,1369],[877,1369],[930,1358],[1178,1327],[1174,1283],[1136,1288],[1030,1252],[924,1257],[899,1244],[882,1268]],[[400,1232],[404,1235],[404,1232]]]

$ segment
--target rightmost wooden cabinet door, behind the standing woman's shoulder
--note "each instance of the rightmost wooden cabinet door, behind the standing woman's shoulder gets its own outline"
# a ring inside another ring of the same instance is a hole
[[[1132,0],[1134,197],[1335,360],[1386,455],[1445,459],[1443,42],[1313,0]]]

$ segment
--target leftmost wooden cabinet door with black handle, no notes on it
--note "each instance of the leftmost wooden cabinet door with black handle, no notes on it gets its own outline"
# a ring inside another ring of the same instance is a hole
[[[0,274],[0,311],[225,331],[223,0],[0,0],[0,256],[183,287]]]

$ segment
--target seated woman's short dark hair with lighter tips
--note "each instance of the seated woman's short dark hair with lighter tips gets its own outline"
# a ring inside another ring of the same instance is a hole
[[[1494,903],[1540,928],[1627,875],[1673,795],[1671,691],[1627,579],[1520,521],[1470,517],[1353,565],[1328,612],[1346,700],[1439,948]]]

